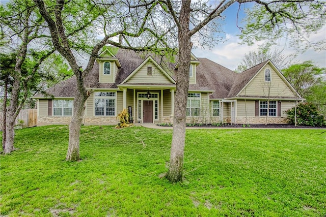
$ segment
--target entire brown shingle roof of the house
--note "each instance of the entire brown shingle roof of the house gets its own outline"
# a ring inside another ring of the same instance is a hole
[[[85,79],[85,86],[87,88],[117,88],[124,79],[126,79],[143,61],[152,56],[155,61],[162,66],[162,68],[175,79],[174,69],[178,57],[174,56],[174,61],[171,62],[168,58],[155,55],[147,52],[134,52],[131,50],[119,49],[115,54],[119,59],[121,68],[118,69],[115,83],[99,83],[99,64],[97,61],[94,64],[90,74]],[[244,85],[261,69],[266,63],[261,63],[249,70],[240,74],[233,72],[207,58],[198,58],[200,64],[196,68],[196,84],[190,84],[189,90],[213,90],[211,99],[223,99],[233,97],[242,89]],[[142,83],[144,85],[145,83]],[[156,84],[154,84],[156,85]],[[174,84],[171,84],[174,85]],[[75,91],[75,77],[67,79],[49,89],[46,92],[54,97],[73,97]],[[36,98],[45,97],[42,94],[34,96]]]

